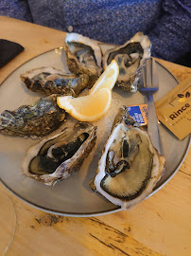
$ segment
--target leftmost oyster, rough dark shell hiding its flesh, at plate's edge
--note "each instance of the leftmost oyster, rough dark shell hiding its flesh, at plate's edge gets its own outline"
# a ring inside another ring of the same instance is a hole
[[[5,110],[0,116],[0,133],[9,136],[42,137],[56,130],[65,119],[53,94],[15,111]]]

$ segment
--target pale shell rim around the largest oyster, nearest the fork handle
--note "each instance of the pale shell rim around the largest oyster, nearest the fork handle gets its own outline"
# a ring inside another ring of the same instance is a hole
[[[126,200],[123,201],[122,199],[113,197],[113,195],[109,194],[108,192],[105,192],[101,188],[100,183],[101,183],[101,180],[105,176],[105,167],[106,167],[105,160],[106,160],[106,157],[107,157],[108,149],[111,146],[111,144],[113,143],[112,135],[115,132],[115,129],[117,129],[118,124],[120,124],[129,115],[129,114],[127,115],[126,109],[127,109],[126,106],[123,106],[119,109],[119,112],[118,112],[118,114],[115,117],[114,122],[113,122],[113,128],[112,128],[111,134],[110,134],[110,136],[108,137],[108,139],[105,143],[105,146],[104,146],[103,151],[102,151],[102,155],[101,155],[101,157],[98,161],[96,176],[93,180],[90,181],[90,187],[92,188],[93,191],[96,190],[96,192],[102,194],[106,199],[111,201],[114,205],[120,206],[122,208],[122,210],[129,210],[131,207],[137,205],[138,203],[142,202],[143,200],[145,200],[148,197],[148,195],[152,192],[156,183],[160,180],[160,178],[163,174],[163,167],[164,167],[164,163],[165,163],[164,155],[159,155],[158,151],[152,145],[152,142],[151,142],[150,137],[148,136],[148,133],[146,131],[144,131],[143,129],[140,129],[139,127],[133,127],[132,126],[133,129],[138,130],[139,132],[146,135],[146,137],[148,138],[149,151],[153,155],[153,157],[152,157],[153,163],[152,163],[151,174],[150,174],[150,177],[148,179],[149,182],[147,183],[147,186],[144,189],[144,191],[141,192],[141,194],[138,197],[136,197],[134,199],[131,199],[129,201],[126,201]],[[124,116],[122,116],[122,115],[124,115]],[[133,120],[132,125],[136,126],[136,124],[137,124],[136,121]],[[111,140],[111,144],[109,144],[110,140]],[[103,168],[104,168],[103,171],[101,170],[101,168],[102,168],[101,165],[103,165]],[[112,200],[111,200],[111,198],[112,198]]]

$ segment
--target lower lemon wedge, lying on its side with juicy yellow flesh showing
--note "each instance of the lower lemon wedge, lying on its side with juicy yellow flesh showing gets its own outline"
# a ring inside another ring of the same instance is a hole
[[[80,121],[95,121],[106,115],[112,103],[112,91],[109,88],[97,90],[94,94],[73,98],[57,98],[59,107]]]

